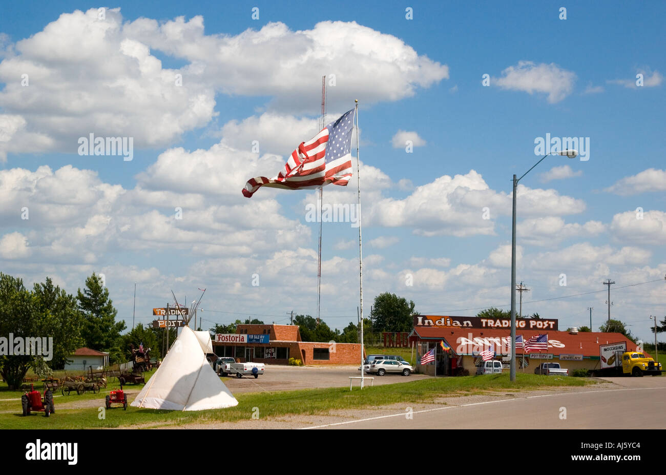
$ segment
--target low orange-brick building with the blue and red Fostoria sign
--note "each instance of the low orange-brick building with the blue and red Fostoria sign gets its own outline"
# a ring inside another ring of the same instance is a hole
[[[252,342],[265,340],[265,335],[268,335],[267,343]],[[304,342],[298,325],[239,324],[236,334],[216,335],[212,344],[216,355],[230,356],[237,362],[288,364],[289,358],[301,360],[303,364],[360,365],[361,362],[360,344]]]

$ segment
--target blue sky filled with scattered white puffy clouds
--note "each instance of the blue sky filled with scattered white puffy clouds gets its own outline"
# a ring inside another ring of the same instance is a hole
[[[316,314],[318,223],[304,211],[314,192],[240,189],[276,175],[316,133],[321,77],[335,75],[328,121],[360,107],[366,314],[386,290],[422,313],[508,304],[511,176],[541,158],[546,134],[588,138],[589,159],[548,157],[521,181],[517,278],[527,301],[601,292],[523,302],[523,313],[566,328],[588,324],[593,306],[597,328],[603,280],[661,278],[611,289],[611,314],[646,339],[649,315],[666,314],[663,3],[342,2],[313,13],[305,2],[121,2],[102,20],[98,7],[3,7],[3,272],[69,291],[102,272],[126,321],[134,282],[144,323],[170,288],[191,300],[204,286],[208,322]],[[133,137],[133,160],[77,155],[89,133]],[[355,199],[356,177],[324,189],[326,203]],[[322,318],[342,328],[356,321],[358,234],[323,227]]]

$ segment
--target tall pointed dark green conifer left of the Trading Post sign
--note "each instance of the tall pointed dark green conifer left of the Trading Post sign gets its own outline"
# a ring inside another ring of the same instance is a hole
[[[83,292],[79,288],[77,300],[83,313],[81,336],[85,346],[109,353],[113,351],[115,357],[109,356],[115,362],[117,355],[124,353],[120,348],[123,344],[121,332],[127,327],[125,320],[116,322],[118,310],[109,298],[109,289],[102,286],[101,278],[95,272],[85,280]]]

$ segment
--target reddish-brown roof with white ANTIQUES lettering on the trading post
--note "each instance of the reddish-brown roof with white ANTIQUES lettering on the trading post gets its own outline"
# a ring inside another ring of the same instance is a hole
[[[583,356],[595,356],[599,358],[599,345],[607,343],[626,342],[627,350],[636,348],[636,344],[621,333],[578,332],[577,334],[571,334],[569,332],[553,330],[548,330],[547,332],[543,330],[516,330],[516,334],[522,335],[525,340],[531,336],[543,333],[548,334],[547,352],[555,356],[559,356],[560,354],[582,354]],[[502,338],[504,338],[505,342],[508,342],[510,336],[511,330],[494,328],[435,328],[430,326],[415,326],[414,330],[410,333],[410,337],[417,340],[444,340],[456,354],[472,354],[468,350],[469,346],[474,344],[483,344],[486,347],[492,344],[501,346]],[[517,352],[520,353],[521,350],[517,348]],[[647,352],[643,351],[643,353],[645,353],[645,356],[649,356]]]

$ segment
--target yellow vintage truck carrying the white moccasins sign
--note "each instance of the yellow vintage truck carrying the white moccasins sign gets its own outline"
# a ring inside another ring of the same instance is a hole
[[[590,376],[659,376],[661,363],[645,356],[638,348],[627,351],[626,342],[599,346],[601,368],[590,371]]]

